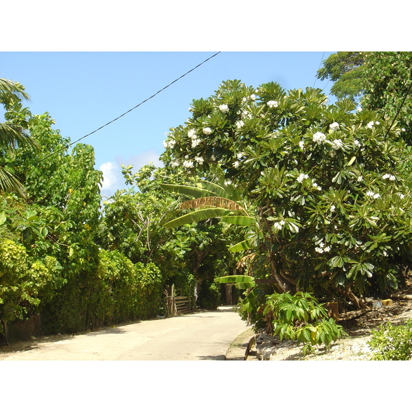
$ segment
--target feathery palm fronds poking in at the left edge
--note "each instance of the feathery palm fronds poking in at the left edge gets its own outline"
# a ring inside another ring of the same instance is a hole
[[[0,103],[5,108],[10,108],[23,99],[29,100],[29,95],[27,95],[20,83],[0,78]],[[14,192],[19,196],[25,197],[23,185],[16,179],[10,168],[5,168],[1,158],[5,152],[16,147],[34,146],[36,146],[36,143],[30,137],[27,130],[10,122],[0,123],[0,192]]]

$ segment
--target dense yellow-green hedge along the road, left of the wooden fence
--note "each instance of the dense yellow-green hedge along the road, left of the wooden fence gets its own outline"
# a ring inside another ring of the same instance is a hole
[[[97,264],[69,277],[43,307],[43,332],[71,333],[149,319],[159,313],[161,297],[162,276],[155,264],[133,264],[117,250],[100,250]]]

